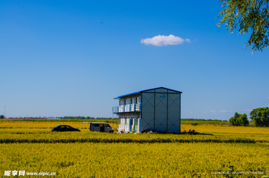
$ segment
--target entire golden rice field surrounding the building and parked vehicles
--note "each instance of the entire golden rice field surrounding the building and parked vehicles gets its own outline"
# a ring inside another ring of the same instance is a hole
[[[183,125],[200,134],[109,134],[69,125],[81,132],[54,133],[50,123],[0,123],[0,177],[5,170],[56,172],[45,177],[223,177],[210,172],[228,170],[219,168],[228,161],[237,171],[268,175],[268,128]]]

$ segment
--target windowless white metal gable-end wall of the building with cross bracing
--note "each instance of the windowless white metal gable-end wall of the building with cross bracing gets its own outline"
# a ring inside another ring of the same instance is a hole
[[[142,130],[180,132],[180,93],[163,88],[150,90],[142,93],[141,102]]]

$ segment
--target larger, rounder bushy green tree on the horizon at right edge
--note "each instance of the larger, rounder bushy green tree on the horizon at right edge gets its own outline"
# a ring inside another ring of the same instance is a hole
[[[250,112],[254,125],[269,125],[269,108],[256,108]]]

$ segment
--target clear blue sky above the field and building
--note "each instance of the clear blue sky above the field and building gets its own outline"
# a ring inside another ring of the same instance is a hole
[[[269,105],[268,49],[218,29],[220,5],[1,1],[0,114],[112,117],[113,98],[166,87],[183,92],[182,118],[249,117]],[[184,42],[140,43],[158,35]]]

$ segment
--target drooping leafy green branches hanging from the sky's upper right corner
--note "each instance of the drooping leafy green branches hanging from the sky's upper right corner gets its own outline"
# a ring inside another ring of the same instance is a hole
[[[222,17],[217,23],[220,27],[224,22],[226,29],[233,33],[238,28],[239,34],[251,31],[245,48],[251,46],[252,52],[269,46],[269,0],[220,0],[223,10],[216,18]]]

